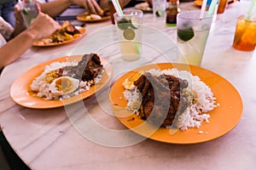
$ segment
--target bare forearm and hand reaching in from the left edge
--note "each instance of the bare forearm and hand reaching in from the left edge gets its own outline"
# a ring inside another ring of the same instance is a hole
[[[9,65],[23,54],[32,43],[49,36],[61,26],[47,14],[38,14],[32,25],[0,48],[0,69]],[[15,50],[14,50],[15,47]]]

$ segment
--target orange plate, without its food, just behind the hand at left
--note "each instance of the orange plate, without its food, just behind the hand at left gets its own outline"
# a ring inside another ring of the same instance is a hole
[[[41,41],[39,40],[39,41],[33,42],[33,46],[35,46],[35,47],[51,47],[51,46],[57,46],[57,45],[62,45],[65,43],[73,42],[74,40],[77,40],[80,37],[83,37],[86,32],[84,27],[81,27],[81,26],[75,26],[75,27],[80,31],[80,35],[78,37],[74,37],[74,38],[64,41],[64,42],[52,42],[52,43],[48,43],[48,44],[41,43]]]

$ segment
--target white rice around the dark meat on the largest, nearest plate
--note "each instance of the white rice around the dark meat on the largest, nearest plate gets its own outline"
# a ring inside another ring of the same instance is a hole
[[[192,98],[195,99],[193,104],[178,117],[177,127],[181,130],[187,130],[189,127],[200,127],[201,123],[206,121],[209,122],[210,115],[207,113],[212,111],[216,105],[216,98],[213,96],[211,88],[207,86],[205,82],[202,82],[200,77],[193,76],[189,71],[178,71],[177,69],[167,69],[164,71],[160,70],[149,70],[146,71],[154,76],[160,76],[162,74],[172,75],[179,77],[189,82],[186,93],[191,94]],[[127,108],[137,113],[138,106],[141,104],[140,93],[136,90],[124,91],[125,99],[128,101]],[[171,126],[170,126],[171,127]]]

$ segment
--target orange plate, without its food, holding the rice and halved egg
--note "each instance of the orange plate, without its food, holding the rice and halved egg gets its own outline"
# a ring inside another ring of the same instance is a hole
[[[33,108],[33,109],[49,109],[60,107],[63,105],[73,104],[79,100],[86,99],[90,97],[90,95],[95,94],[104,85],[109,81],[112,74],[112,66],[107,63],[106,59],[102,59],[102,65],[104,67],[104,71],[102,72],[102,80],[96,85],[91,86],[90,90],[85,91],[79,95],[73,96],[70,99],[63,100],[46,100],[43,98],[38,98],[37,93],[32,92],[30,85],[34,78],[38,77],[43,71],[46,65],[49,65],[53,62],[66,62],[66,61],[79,61],[82,55],[73,55],[73,56],[65,56],[58,59],[49,60],[43,64],[37,65],[32,69],[26,71],[20,77],[18,77],[15,82],[12,84],[10,88],[10,96],[11,98],[18,104],[24,107]]]

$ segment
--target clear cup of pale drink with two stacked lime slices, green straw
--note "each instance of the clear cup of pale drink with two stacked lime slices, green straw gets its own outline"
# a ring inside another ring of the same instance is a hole
[[[143,11],[127,9],[123,13],[124,16],[113,14],[122,58],[127,61],[137,60],[142,50]]]

